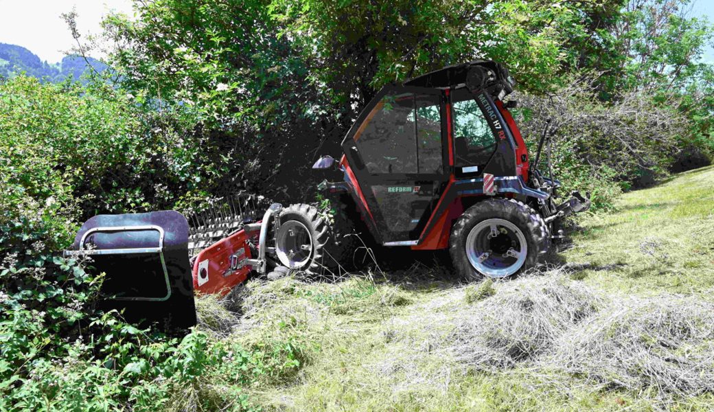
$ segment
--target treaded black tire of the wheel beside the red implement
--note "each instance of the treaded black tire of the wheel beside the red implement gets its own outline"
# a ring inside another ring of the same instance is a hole
[[[313,250],[308,262],[303,267],[293,269],[311,274],[320,272],[323,248],[328,242],[329,233],[327,223],[319,216],[317,209],[308,204],[291,204],[280,212],[280,221],[281,223],[286,221],[303,223],[310,232],[312,239]],[[278,262],[280,261],[278,260]],[[278,264],[283,265],[282,262]]]

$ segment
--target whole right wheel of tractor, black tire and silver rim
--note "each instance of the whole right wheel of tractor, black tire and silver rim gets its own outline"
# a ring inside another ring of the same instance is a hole
[[[453,266],[469,280],[525,271],[549,248],[543,218],[514,199],[488,199],[471,206],[456,220],[449,239]]]

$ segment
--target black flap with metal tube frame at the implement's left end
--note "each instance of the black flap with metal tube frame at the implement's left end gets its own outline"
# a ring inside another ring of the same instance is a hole
[[[101,308],[172,333],[196,324],[188,223],[181,213],[94,216],[65,256],[88,256],[91,273],[106,273]]]

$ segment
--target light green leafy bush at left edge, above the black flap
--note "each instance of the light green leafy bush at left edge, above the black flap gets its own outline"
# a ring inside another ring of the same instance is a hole
[[[19,196],[69,217],[166,208],[216,174],[196,162],[185,111],[156,111],[106,85],[0,83],[0,169]],[[198,164],[199,167],[195,165]],[[20,193],[17,193],[20,192]]]

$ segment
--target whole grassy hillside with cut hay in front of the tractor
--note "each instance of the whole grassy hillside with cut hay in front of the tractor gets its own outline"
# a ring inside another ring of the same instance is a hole
[[[273,353],[294,373],[252,382],[268,411],[709,411],[713,188],[708,167],[624,194],[579,222],[548,271],[465,286],[414,263],[251,281],[228,302],[240,318],[199,300],[201,328],[236,347],[301,348]]]

